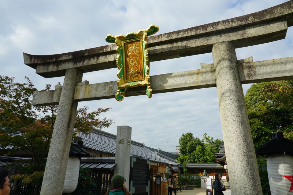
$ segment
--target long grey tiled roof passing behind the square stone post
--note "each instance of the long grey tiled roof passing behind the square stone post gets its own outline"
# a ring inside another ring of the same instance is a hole
[[[82,138],[83,146],[85,148],[107,153],[115,154],[116,150],[116,135],[107,133],[105,131],[93,130],[90,134],[78,133]],[[152,162],[163,163],[166,165],[178,165],[176,161],[166,159],[162,156],[150,151],[143,144],[131,141],[130,155],[135,158],[150,160]]]

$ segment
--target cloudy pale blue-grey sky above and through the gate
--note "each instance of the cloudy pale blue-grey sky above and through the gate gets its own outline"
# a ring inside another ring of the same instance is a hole
[[[46,83],[53,86],[64,77],[43,78],[23,62],[23,52],[50,55],[108,43],[107,34],[119,35],[146,29],[156,24],[157,34],[186,29],[261,11],[284,0],[148,0],[148,1],[57,1],[0,0],[0,74],[23,83],[28,76],[38,90]],[[236,49],[237,59],[254,56],[254,61],[291,57],[292,28],[284,40]],[[199,69],[200,62],[213,63],[212,54],[151,62],[150,75]],[[84,73],[90,84],[117,80],[118,69]],[[244,93],[250,84],[243,85]],[[205,88],[164,94],[80,102],[90,111],[112,109],[102,117],[115,124],[102,129],[116,134],[117,126],[132,127],[132,140],[146,146],[175,151],[180,136],[191,132],[202,138],[206,132],[223,139],[217,89]],[[167,143],[168,142],[168,143]],[[167,148],[168,146],[168,148]]]

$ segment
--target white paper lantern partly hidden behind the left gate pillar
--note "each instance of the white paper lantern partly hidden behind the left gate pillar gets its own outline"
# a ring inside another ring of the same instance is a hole
[[[64,180],[63,193],[73,192],[78,183],[78,175],[80,169],[80,160],[75,156],[69,156],[66,176]]]

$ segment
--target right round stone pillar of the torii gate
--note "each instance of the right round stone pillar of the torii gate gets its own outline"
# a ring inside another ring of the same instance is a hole
[[[262,195],[235,47],[216,43],[212,54],[231,194]]]

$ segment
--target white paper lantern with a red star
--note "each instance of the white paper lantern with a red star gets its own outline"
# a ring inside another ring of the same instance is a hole
[[[293,157],[272,155],[267,160],[267,169],[272,195],[293,195]]]

